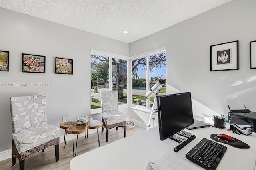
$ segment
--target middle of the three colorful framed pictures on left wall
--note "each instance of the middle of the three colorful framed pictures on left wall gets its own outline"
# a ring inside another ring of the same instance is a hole
[[[22,72],[45,73],[45,56],[22,54]]]

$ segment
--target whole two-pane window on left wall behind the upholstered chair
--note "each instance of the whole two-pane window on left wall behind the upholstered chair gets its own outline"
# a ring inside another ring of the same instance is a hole
[[[119,105],[127,104],[127,60],[92,54],[91,109],[101,108],[100,91],[110,89],[118,90]]]

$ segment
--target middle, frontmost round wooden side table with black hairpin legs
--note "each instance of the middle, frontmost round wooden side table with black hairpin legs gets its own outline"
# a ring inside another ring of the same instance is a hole
[[[76,152],[74,154],[75,134],[77,134],[76,136],[76,148],[77,148],[78,134],[86,132],[87,128],[88,128],[87,123],[85,123],[83,125],[75,124],[67,129],[68,134],[74,134],[74,138],[73,138],[73,156],[74,157],[76,156]]]

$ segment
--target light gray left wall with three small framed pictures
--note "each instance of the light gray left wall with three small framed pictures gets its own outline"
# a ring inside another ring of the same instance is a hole
[[[11,149],[9,97],[46,94],[47,121],[59,127],[63,116],[72,120],[90,115],[90,50],[129,56],[128,43],[4,8],[0,19],[0,49],[10,51],[10,71],[0,72],[0,83],[52,83],[51,87],[0,87],[0,151]],[[46,56],[46,73],[22,73],[22,53]],[[55,57],[74,59],[74,74],[55,74]]]

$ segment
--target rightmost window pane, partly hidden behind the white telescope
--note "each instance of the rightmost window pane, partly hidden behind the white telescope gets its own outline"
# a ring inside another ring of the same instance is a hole
[[[149,57],[149,87],[152,88],[160,78],[166,79],[166,53]],[[158,95],[164,95],[165,93],[166,84],[160,88],[160,93],[158,93]],[[155,95],[156,94],[154,93],[152,97],[150,97],[150,107],[153,105]]]

